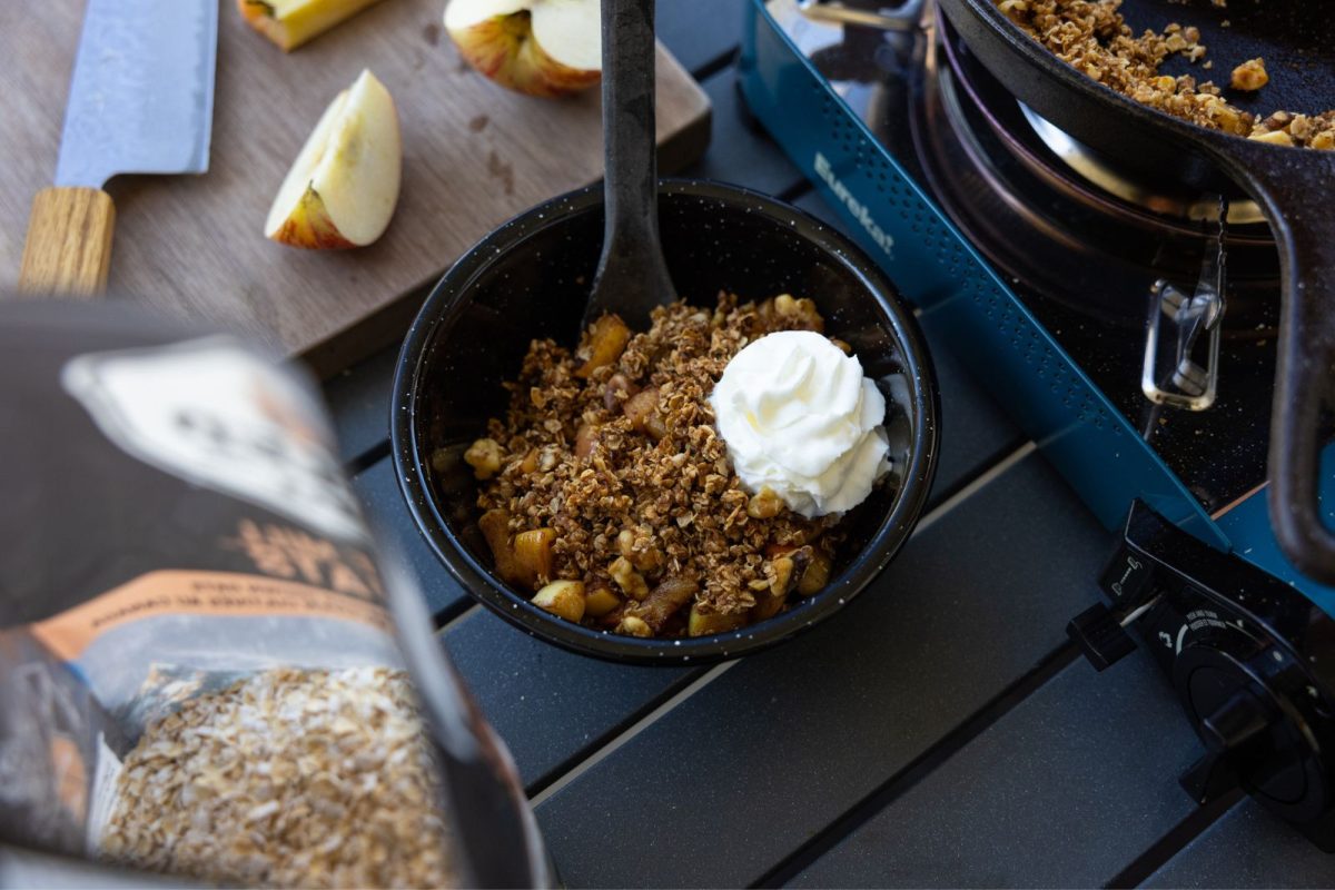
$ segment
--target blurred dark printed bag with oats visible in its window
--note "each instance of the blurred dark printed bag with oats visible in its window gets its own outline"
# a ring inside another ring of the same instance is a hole
[[[11,303],[0,430],[0,841],[240,886],[550,883],[302,375]]]

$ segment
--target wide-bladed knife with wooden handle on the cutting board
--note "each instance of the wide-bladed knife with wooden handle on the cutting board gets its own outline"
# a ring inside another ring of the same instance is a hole
[[[107,286],[117,173],[203,173],[214,117],[218,0],[88,0],[55,187],[28,216],[19,287]]]

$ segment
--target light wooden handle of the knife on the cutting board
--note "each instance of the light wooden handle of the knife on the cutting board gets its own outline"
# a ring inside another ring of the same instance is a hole
[[[44,188],[32,199],[19,288],[96,296],[107,288],[116,207],[100,188]]]

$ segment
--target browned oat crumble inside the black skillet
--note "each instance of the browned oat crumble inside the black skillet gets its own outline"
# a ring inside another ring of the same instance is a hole
[[[1193,63],[1206,57],[1200,31],[1195,27],[1169,24],[1163,32],[1147,29],[1137,37],[1117,11],[1121,0],[993,1],[1011,21],[1059,59],[1143,105],[1235,136],[1280,145],[1335,148],[1335,111],[1315,115],[1276,111],[1258,119],[1230,104],[1220,88],[1208,80],[1197,83],[1192,75],[1160,75],[1160,65],[1173,53]],[[1232,85],[1251,91],[1264,85],[1264,67],[1254,59],[1238,67]]]

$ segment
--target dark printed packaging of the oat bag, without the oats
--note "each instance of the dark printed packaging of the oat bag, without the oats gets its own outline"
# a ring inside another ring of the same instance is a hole
[[[442,843],[458,847],[450,881],[550,881],[513,763],[411,583],[380,559],[300,374],[235,339],[108,307],[11,304],[0,430],[5,842],[96,858],[124,814],[117,795],[135,787],[123,761],[175,726],[168,715],[226,703],[256,678],[331,670],[362,683],[362,669],[411,660]],[[255,830],[279,825],[280,809],[254,809]]]

